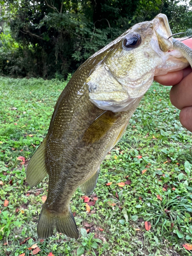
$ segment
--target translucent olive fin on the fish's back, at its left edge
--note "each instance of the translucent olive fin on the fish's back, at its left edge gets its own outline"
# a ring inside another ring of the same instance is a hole
[[[36,186],[42,181],[46,175],[46,164],[45,164],[45,145],[46,138],[42,141],[35,154],[32,156],[27,166],[27,182],[31,187]]]

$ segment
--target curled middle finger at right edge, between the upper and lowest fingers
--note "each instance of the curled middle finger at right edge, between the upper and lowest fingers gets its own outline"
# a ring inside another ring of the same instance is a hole
[[[192,73],[184,77],[180,83],[170,90],[170,101],[176,108],[182,110],[192,105]]]

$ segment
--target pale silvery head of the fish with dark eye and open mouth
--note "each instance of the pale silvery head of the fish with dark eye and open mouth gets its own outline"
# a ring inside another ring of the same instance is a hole
[[[86,81],[91,102],[103,110],[130,110],[155,75],[187,67],[187,60],[173,50],[171,35],[166,15],[159,14],[151,22],[134,25],[94,54],[91,59],[100,56],[101,60]]]

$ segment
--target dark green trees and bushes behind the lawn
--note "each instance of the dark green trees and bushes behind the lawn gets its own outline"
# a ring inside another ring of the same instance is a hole
[[[191,28],[191,11],[185,2],[1,1],[4,27],[11,28],[10,40],[16,40],[19,49],[9,53],[2,49],[7,54],[1,57],[0,68],[6,75],[66,78],[132,25],[151,20],[160,12],[168,16],[174,32]]]

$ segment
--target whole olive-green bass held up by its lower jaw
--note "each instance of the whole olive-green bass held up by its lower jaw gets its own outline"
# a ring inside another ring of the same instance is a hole
[[[164,14],[134,25],[86,60],[60,94],[48,134],[27,167],[31,187],[49,175],[40,239],[51,237],[54,228],[78,239],[70,209],[75,190],[93,192],[101,162],[123,136],[154,76],[189,65],[171,36]]]

